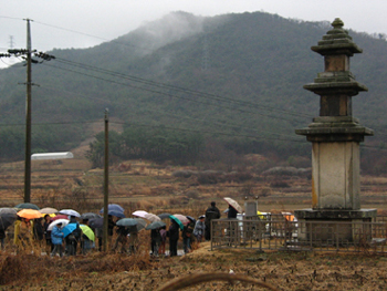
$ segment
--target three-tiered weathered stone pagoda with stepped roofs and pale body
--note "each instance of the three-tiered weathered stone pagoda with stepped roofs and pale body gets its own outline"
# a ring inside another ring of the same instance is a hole
[[[376,209],[360,208],[359,143],[374,132],[353,117],[352,97],[367,87],[349,72],[349,58],[362,53],[343,21],[335,19],[333,29],[312,46],[324,56],[325,70],[304,89],[320,95],[320,116],[306,128],[296,129],[312,143],[312,208],[296,210],[303,221],[372,221]],[[345,239],[353,239],[351,227]],[[307,233],[304,233],[307,236]],[[324,240],[326,233],[320,235]]]

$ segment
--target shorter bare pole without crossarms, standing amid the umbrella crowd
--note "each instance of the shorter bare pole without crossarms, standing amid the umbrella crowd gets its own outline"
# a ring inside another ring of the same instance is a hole
[[[107,217],[108,217],[108,110],[105,110],[105,154],[104,154],[104,230],[103,250],[107,251]]]

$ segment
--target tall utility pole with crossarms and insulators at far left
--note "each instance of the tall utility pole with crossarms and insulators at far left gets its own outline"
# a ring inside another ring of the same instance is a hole
[[[11,55],[22,56],[27,62],[27,96],[25,96],[25,155],[24,155],[24,202],[31,201],[31,95],[32,95],[32,63],[42,63],[43,61],[50,61],[55,59],[55,56],[32,50],[31,46],[31,19],[24,19],[27,21],[27,49],[8,50],[8,54],[0,54],[0,58],[10,58]],[[13,43],[11,43],[13,45]],[[39,62],[32,60],[32,53],[34,56],[42,59],[43,61]]]

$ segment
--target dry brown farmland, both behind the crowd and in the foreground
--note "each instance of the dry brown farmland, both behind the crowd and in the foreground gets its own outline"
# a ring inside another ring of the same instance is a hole
[[[23,200],[22,167],[22,163],[0,164],[0,207]],[[34,162],[32,167],[32,202],[57,209],[74,208],[80,212],[101,209],[102,169],[88,170],[84,159]],[[258,196],[261,211],[294,210],[311,205],[311,181],[305,178],[257,176],[245,183],[228,180],[202,185],[195,177],[174,177],[172,173],[178,169],[142,160],[112,167],[109,202],[123,205],[127,216],[144,209],[195,217],[203,214],[210,200],[216,200],[224,210],[227,204],[222,197],[227,196],[241,205],[245,196],[250,199]],[[385,177],[362,177],[363,208],[386,211],[386,188]],[[210,274],[210,278],[223,274],[229,276],[229,280],[239,280],[233,284],[198,282],[186,290],[386,290],[387,258],[367,253],[210,251],[208,242],[187,256],[156,260],[149,258],[146,247],[136,256],[94,252],[87,257],[51,259],[31,253],[0,253],[0,290],[155,291],[172,280],[198,274]],[[273,288],[245,283],[239,276]]]

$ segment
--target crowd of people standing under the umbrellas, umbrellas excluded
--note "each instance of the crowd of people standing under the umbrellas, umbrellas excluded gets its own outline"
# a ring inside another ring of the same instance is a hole
[[[90,226],[95,235],[95,239],[86,236],[80,226],[88,226],[88,219],[75,216],[67,216],[65,224],[53,224],[52,215],[41,218],[28,219],[19,217],[14,221],[13,243],[19,248],[25,248],[33,243],[45,245],[45,252],[52,257],[86,254],[91,249],[102,250],[103,231],[102,227]],[[210,240],[211,220],[220,218],[220,211],[212,201],[206,210],[206,215],[197,218],[187,216],[187,221],[180,224],[177,219],[170,218],[168,226],[150,229],[150,254],[158,257],[167,253],[166,246],[169,246],[169,256],[178,254],[178,241],[181,237],[185,253],[190,252],[192,245],[203,240]],[[140,243],[138,229],[136,226],[123,226],[118,221],[122,217],[108,215],[108,246],[109,250],[122,253],[135,253]],[[51,226],[53,225],[53,226]],[[64,228],[73,225],[70,233],[64,233]],[[51,226],[51,228],[50,228]],[[0,243],[4,247],[6,232],[0,228]]]

